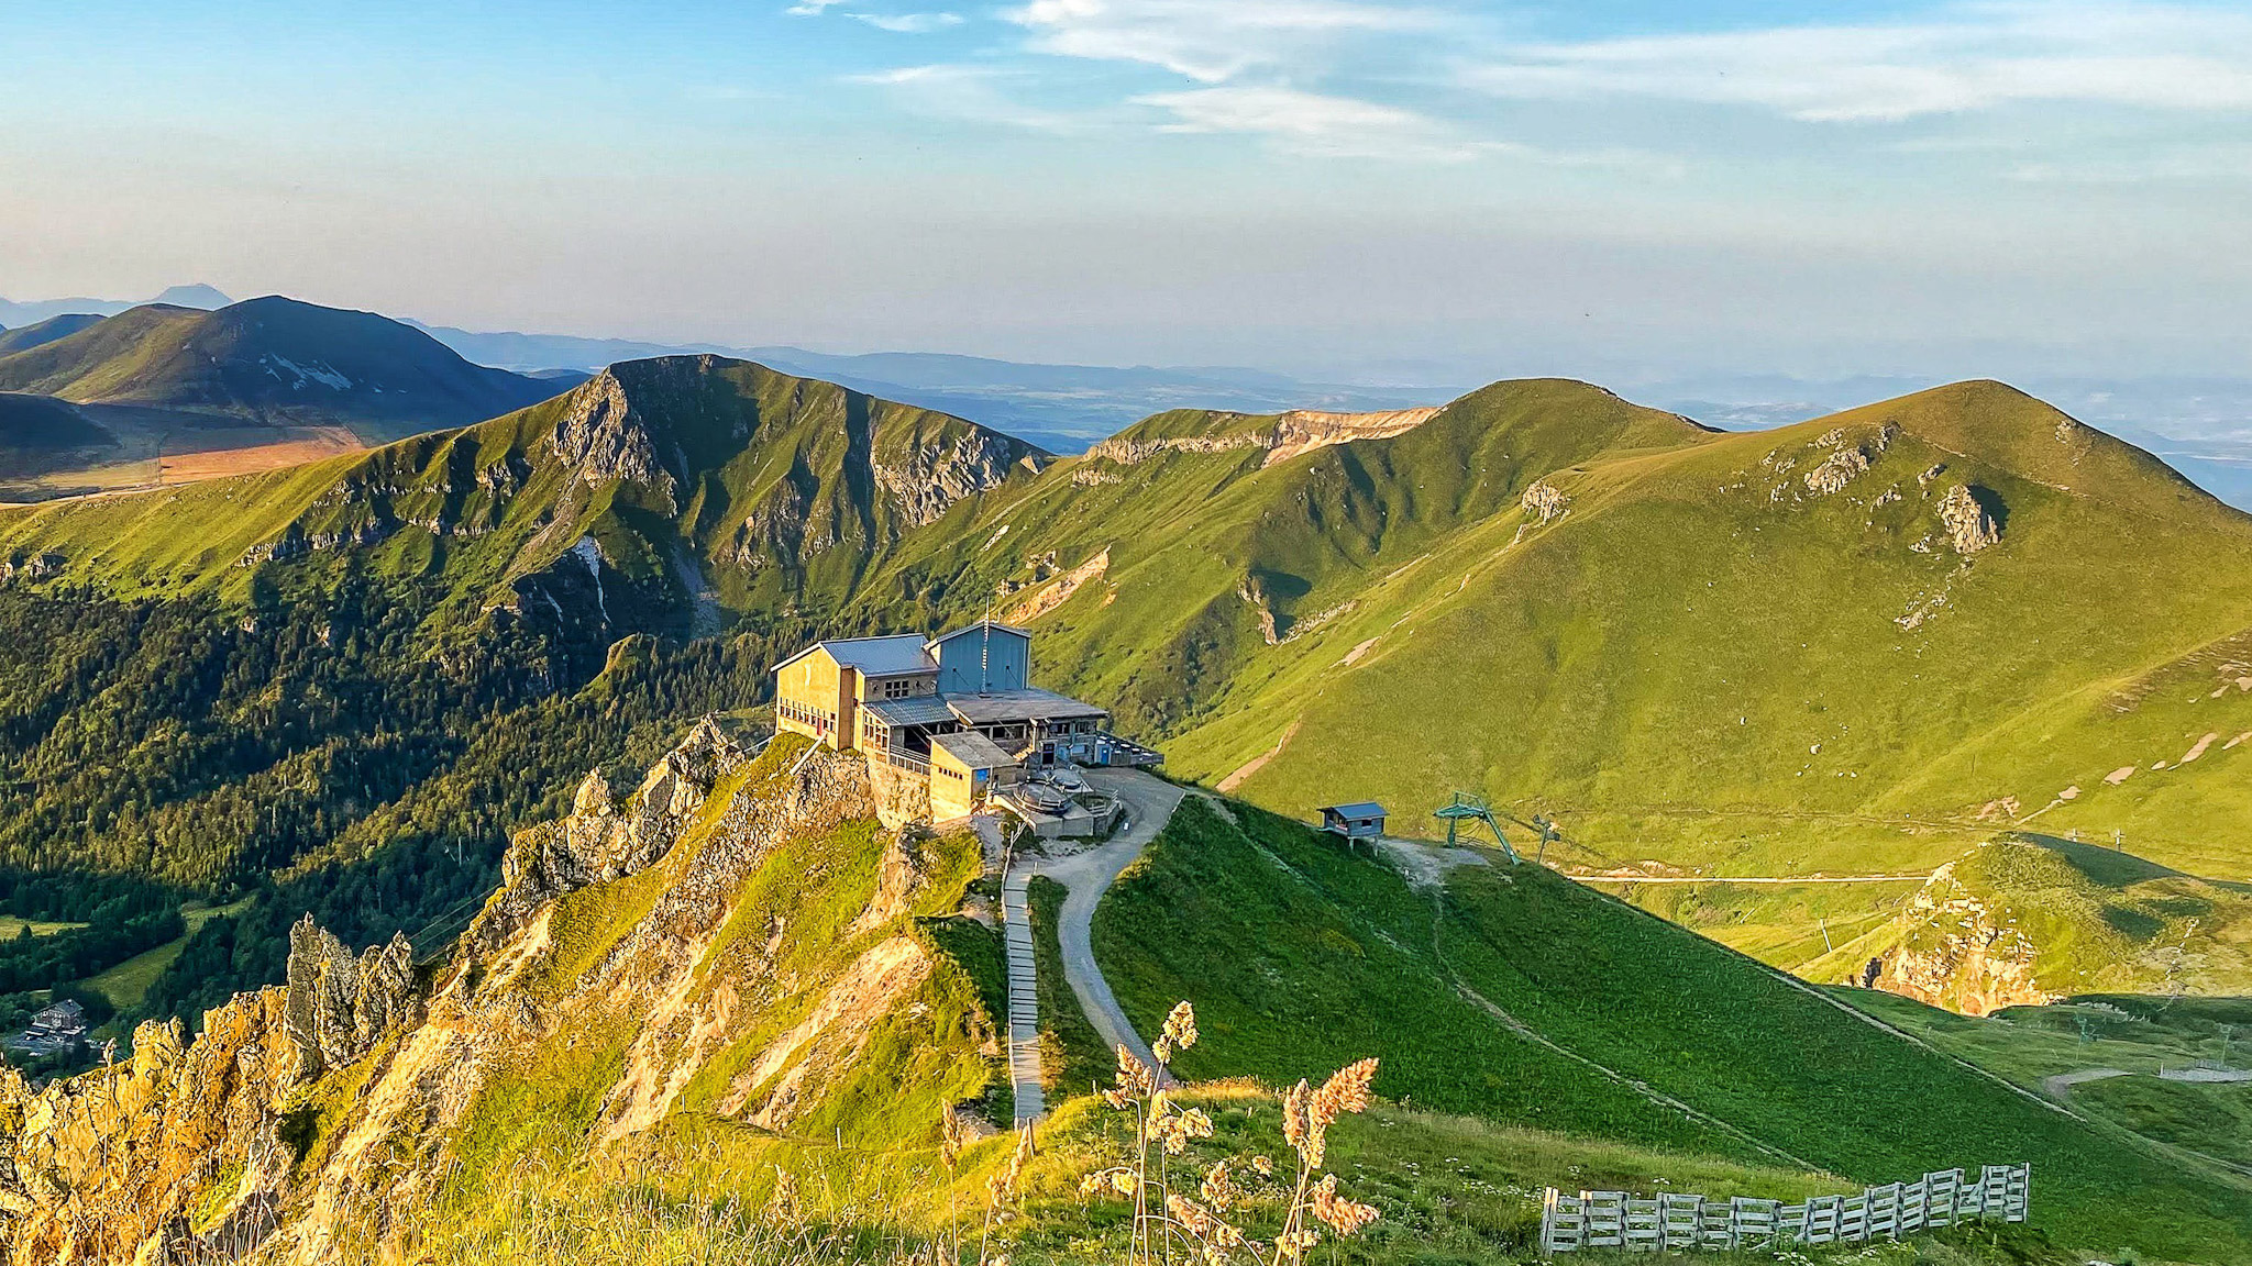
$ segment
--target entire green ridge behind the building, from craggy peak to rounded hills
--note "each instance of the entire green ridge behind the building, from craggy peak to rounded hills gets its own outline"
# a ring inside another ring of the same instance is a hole
[[[0,554],[32,604],[309,613],[365,577],[419,595],[410,656],[511,628],[558,698],[637,633],[763,656],[993,613],[1176,775],[1380,800],[1410,836],[1482,793],[1552,822],[1549,863],[1712,881],[1664,908],[1770,962],[1916,883],[1732,876],[1916,876],[2009,829],[2252,863],[2252,518],[2000,383],[1712,433],[1543,378],[1380,426],[1176,410],[1052,460],[680,356],[315,466],[0,511]]]

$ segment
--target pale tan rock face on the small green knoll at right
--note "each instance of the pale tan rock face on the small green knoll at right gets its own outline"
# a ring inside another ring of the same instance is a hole
[[[1995,912],[1955,879],[1955,863],[1932,872],[1898,921],[1901,944],[1862,971],[1862,984],[1964,1016],[2054,998],[2034,984],[2038,946],[2018,928],[2000,926]]]

